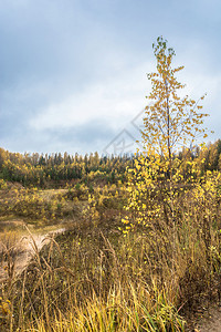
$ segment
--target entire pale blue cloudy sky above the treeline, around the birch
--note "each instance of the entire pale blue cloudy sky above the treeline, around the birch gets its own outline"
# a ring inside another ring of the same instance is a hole
[[[159,35],[221,138],[221,1],[0,0],[0,146],[133,152]]]

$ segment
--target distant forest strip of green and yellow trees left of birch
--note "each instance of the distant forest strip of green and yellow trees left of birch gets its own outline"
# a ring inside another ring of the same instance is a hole
[[[70,156],[66,153],[54,155],[21,155],[0,148],[0,178],[20,181],[24,186],[65,187],[73,184],[108,184],[125,181],[126,167],[131,158],[99,157],[97,153],[90,156]]]

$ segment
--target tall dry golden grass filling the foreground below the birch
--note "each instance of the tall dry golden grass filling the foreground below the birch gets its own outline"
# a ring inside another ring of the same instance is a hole
[[[188,310],[219,300],[219,201],[187,195],[176,227],[159,219],[124,236],[118,226],[82,221],[35,248],[10,292],[2,287],[6,331],[185,331]]]

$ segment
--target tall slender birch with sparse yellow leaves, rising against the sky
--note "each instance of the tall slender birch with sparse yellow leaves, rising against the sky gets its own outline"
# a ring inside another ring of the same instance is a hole
[[[148,96],[151,104],[146,107],[144,118],[144,151],[135,159],[134,168],[128,169],[130,197],[126,209],[130,216],[123,220],[126,231],[135,224],[151,228],[158,217],[168,225],[177,222],[179,201],[185,191],[200,180],[202,168],[197,167],[199,159],[190,156],[187,162],[187,156],[198,134],[207,137],[201,125],[208,114],[199,113],[202,106],[196,101],[180,96],[179,91],[185,85],[175,74],[183,66],[172,69],[175,51],[167,46],[167,41],[158,38],[152,46],[157,72],[148,74],[152,89]]]

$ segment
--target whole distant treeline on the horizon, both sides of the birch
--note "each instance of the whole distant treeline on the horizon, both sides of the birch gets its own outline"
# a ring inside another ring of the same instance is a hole
[[[208,144],[207,148],[182,149],[182,172],[188,177],[188,160],[204,159],[202,172],[221,170],[221,139]],[[99,156],[97,153],[78,154],[19,154],[0,148],[0,178],[19,181],[24,186],[46,187],[66,181],[84,184],[117,184],[127,179],[126,168],[133,167],[133,156]]]

